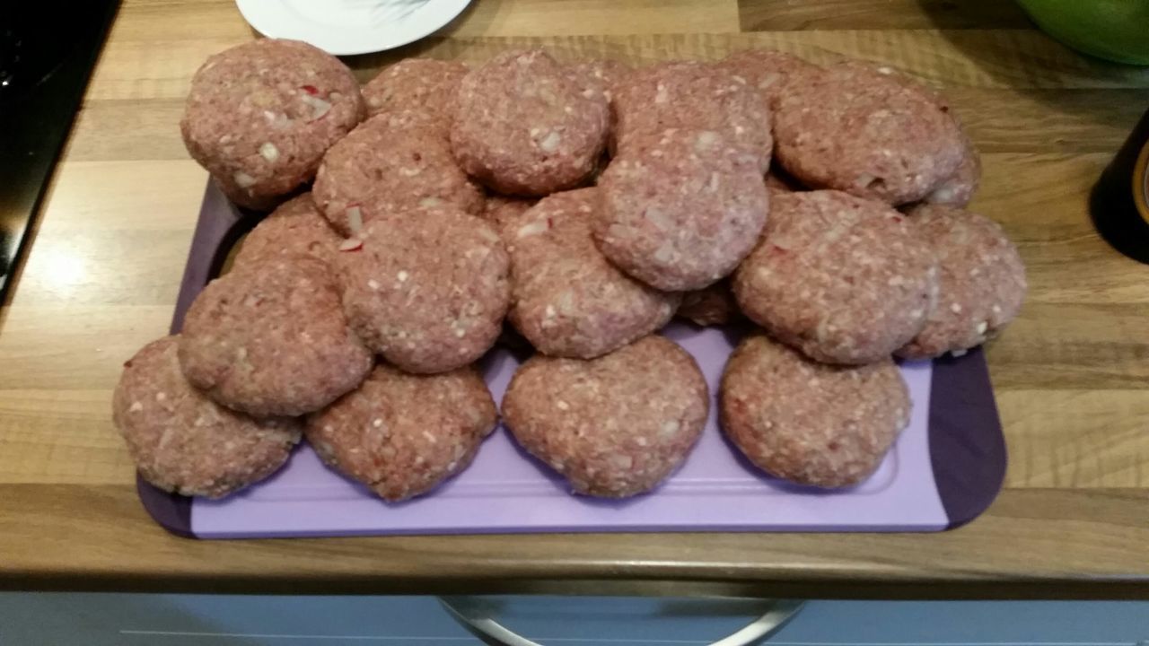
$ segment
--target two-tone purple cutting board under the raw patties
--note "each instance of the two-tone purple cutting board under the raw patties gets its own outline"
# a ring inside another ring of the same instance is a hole
[[[257,216],[209,184],[184,274],[172,331]],[[664,334],[697,360],[717,395],[740,330],[671,324]],[[495,400],[520,357],[492,351],[483,367]],[[910,426],[865,483],[847,491],[800,487],[746,462],[723,438],[717,400],[683,468],[646,495],[604,501],[569,493],[561,478],[499,428],[469,469],[432,493],[387,503],[295,451],[268,480],[219,501],[188,499],[138,480],[148,513],[196,538],[556,531],[939,531],[964,524],[1001,490],[1005,443],[981,351],[905,363]]]

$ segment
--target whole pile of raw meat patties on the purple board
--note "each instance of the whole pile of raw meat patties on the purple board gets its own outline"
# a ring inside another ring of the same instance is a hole
[[[534,351],[502,401],[515,439],[577,493],[650,491],[710,412],[657,334],[676,313],[755,324],[718,393],[734,446],[849,486],[908,424],[894,357],[965,353],[1026,290],[964,210],[980,162],[949,105],[854,61],[511,51],[361,89],[269,39],[208,60],[182,128],[233,201],[279,205],[116,390],[140,472],[188,495],[267,477],[301,434],[387,500],[431,491],[496,424],[475,363],[504,322]]]

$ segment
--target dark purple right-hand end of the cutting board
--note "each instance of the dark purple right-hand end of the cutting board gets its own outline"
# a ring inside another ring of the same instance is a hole
[[[1005,437],[982,348],[935,359],[931,393],[930,462],[951,530],[988,509],[1005,482]]]

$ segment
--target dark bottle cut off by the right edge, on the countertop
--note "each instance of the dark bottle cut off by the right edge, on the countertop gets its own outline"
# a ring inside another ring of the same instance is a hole
[[[1101,174],[1089,213],[1115,249],[1149,264],[1149,111]]]

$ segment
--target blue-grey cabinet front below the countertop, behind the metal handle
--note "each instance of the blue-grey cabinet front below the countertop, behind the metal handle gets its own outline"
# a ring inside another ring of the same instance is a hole
[[[500,597],[499,621],[548,646],[702,646],[758,601]],[[779,646],[1134,646],[1146,602],[811,601]],[[480,644],[431,597],[0,593],[0,645],[336,646]]]

